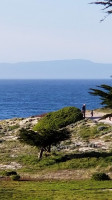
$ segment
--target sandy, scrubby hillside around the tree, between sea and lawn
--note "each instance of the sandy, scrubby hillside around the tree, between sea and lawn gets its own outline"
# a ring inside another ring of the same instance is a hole
[[[99,115],[101,112],[99,113]],[[39,117],[0,121],[0,173],[16,170],[22,176],[36,179],[85,179],[94,171],[112,177],[112,126],[86,118],[68,126],[72,137],[57,147],[51,155],[38,160],[35,147],[21,144],[18,131],[33,127]]]

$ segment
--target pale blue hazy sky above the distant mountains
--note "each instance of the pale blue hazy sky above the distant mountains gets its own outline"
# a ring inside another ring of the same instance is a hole
[[[0,0],[0,62],[112,63],[112,16],[92,0]]]

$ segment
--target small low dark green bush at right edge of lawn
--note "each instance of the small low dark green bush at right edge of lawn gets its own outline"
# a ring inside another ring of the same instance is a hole
[[[110,180],[110,177],[105,173],[94,173],[92,175],[92,180],[95,180],[95,181],[107,181],[107,180]]]

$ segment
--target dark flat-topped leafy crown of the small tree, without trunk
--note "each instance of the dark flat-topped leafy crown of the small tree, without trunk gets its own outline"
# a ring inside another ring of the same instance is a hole
[[[43,133],[37,133],[35,131],[24,129],[20,130],[19,140],[23,143],[31,146],[43,147],[47,150],[49,145],[56,145],[58,142],[69,139],[70,132],[67,129],[60,130],[47,130]]]

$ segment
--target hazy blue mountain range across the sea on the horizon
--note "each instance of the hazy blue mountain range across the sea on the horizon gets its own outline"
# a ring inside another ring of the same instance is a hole
[[[88,60],[0,63],[0,79],[108,79],[112,64]]]

